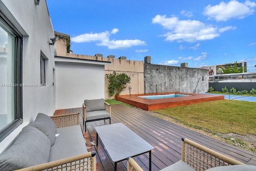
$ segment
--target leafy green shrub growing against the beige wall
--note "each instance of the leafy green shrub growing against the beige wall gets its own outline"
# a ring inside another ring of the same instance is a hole
[[[131,78],[126,74],[118,74],[115,71],[113,74],[105,74],[106,78],[108,78],[108,92],[110,97],[113,95],[119,95],[123,89],[126,87],[127,83],[130,83]]]

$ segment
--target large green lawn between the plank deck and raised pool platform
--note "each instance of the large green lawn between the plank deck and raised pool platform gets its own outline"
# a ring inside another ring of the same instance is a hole
[[[218,100],[153,110],[210,132],[256,135],[255,102]]]

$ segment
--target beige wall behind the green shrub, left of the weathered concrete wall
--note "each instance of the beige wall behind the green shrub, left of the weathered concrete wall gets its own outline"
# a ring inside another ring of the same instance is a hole
[[[144,93],[143,61],[105,58],[78,54],[66,54],[66,57],[111,62],[110,65],[105,66],[105,74],[110,74],[115,71],[116,73],[120,74],[125,73],[131,78],[131,83],[126,85],[126,88],[120,93],[120,95],[130,94],[130,91],[128,89],[129,86],[132,87],[131,94],[133,95]],[[109,96],[108,85],[108,79],[105,77],[105,99],[113,99],[114,97]]]

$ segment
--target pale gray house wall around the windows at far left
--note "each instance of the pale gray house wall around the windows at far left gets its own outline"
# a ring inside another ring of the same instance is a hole
[[[46,1],[36,5],[34,0],[0,0],[0,10],[23,35],[22,82],[40,84],[40,54],[46,60],[46,83],[53,82],[54,46],[48,43],[54,38]],[[0,153],[20,133],[22,127],[34,121],[39,112],[53,115],[53,87],[22,87],[23,123],[0,143]]]

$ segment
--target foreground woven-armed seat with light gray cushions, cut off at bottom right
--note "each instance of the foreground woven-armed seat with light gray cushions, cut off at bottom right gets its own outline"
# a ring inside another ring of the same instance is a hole
[[[256,171],[256,166],[245,165],[187,138],[182,138],[181,160],[161,171]],[[128,157],[128,171],[143,169]]]

